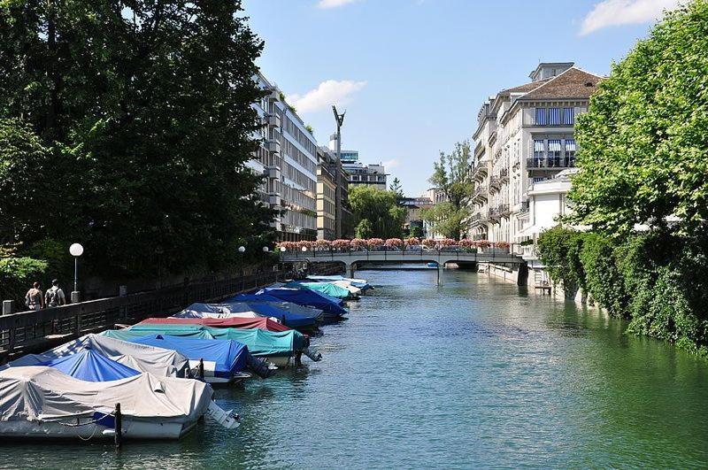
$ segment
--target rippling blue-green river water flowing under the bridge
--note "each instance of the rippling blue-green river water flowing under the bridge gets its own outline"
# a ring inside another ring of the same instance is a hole
[[[708,364],[487,274],[362,271],[324,359],[217,390],[177,443],[0,444],[4,467],[708,466]]]

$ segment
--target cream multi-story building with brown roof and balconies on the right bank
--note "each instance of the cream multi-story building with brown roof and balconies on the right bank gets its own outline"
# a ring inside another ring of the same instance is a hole
[[[475,238],[530,238],[528,190],[575,165],[575,118],[602,77],[573,62],[539,64],[531,81],[490,97],[473,135]],[[558,215],[558,214],[556,214]]]

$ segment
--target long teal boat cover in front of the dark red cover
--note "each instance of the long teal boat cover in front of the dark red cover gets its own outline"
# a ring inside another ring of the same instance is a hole
[[[310,345],[310,340],[296,330],[276,332],[259,328],[215,328],[172,323],[134,325],[126,329],[107,330],[101,335],[123,341],[132,341],[145,335],[234,340],[248,346],[254,356],[290,356],[293,351],[303,351]]]

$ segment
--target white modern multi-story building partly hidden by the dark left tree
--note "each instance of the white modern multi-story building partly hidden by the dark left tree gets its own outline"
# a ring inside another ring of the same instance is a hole
[[[281,211],[272,226],[280,240],[314,240],[317,236],[317,142],[304,122],[283,99],[281,91],[258,74],[268,91],[254,104],[263,127],[256,137],[260,148],[249,166],[266,179],[261,200]]]

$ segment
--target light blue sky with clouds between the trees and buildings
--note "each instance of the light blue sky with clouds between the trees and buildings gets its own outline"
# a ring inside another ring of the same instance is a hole
[[[382,162],[407,196],[472,138],[481,104],[539,62],[607,75],[679,0],[244,0],[258,65],[314,128]]]

